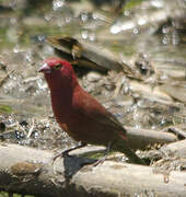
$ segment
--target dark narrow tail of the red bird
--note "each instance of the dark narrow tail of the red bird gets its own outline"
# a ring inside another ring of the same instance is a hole
[[[130,162],[141,165],[147,165],[147,163],[140,159],[128,146],[127,141],[118,140],[113,144],[113,149],[126,154]]]

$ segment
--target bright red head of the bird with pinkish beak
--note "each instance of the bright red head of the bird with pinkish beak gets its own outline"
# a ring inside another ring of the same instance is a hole
[[[38,70],[43,72],[49,88],[73,85],[77,78],[70,62],[60,58],[48,58]]]

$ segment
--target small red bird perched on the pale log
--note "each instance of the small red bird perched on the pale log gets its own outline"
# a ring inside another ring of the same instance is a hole
[[[107,147],[125,153],[133,163],[144,164],[129,148],[126,129],[77,80],[72,66],[59,58],[44,61],[44,72],[50,89],[53,111],[59,126],[74,140]],[[74,150],[69,149],[69,151]],[[106,157],[105,153],[105,157]]]

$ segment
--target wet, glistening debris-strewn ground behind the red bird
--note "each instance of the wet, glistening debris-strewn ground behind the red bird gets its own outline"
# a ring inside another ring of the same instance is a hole
[[[2,140],[58,151],[75,143],[56,124],[47,84],[37,72],[44,59],[57,55],[47,43],[55,35],[89,43],[88,50],[106,48],[121,65],[124,72],[89,67],[75,67],[75,72],[81,85],[124,125],[163,130],[185,124],[185,1],[42,2],[1,3]],[[107,53],[95,59],[102,56]]]

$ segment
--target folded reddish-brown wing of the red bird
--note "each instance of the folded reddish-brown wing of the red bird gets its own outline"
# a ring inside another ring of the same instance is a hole
[[[92,118],[95,124],[103,124],[126,134],[126,129],[117,118],[86,92],[77,93],[74,101],[73,106],[78,113]]]

